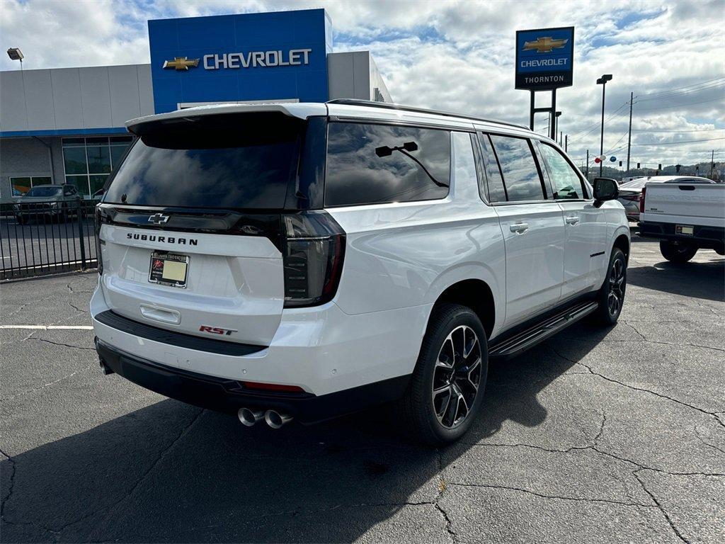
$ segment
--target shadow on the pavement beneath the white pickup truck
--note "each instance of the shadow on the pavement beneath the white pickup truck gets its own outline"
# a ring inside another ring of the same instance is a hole
[[[627,283],[683,297],[722,302],[725,300],[725,259],[682,265],[663,261],[655,266],[629,268]]]

